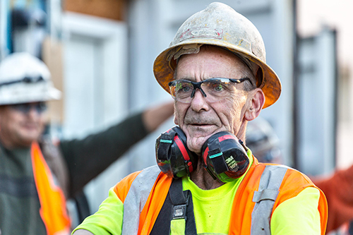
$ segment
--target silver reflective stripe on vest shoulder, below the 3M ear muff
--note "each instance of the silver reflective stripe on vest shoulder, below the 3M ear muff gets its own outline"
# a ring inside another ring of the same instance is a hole
[[[258,191],[253,193],[256,205],[251,213],[251,235],[271,234],[270,217],[286,172],[287,167],[274,165],[263,170]]]

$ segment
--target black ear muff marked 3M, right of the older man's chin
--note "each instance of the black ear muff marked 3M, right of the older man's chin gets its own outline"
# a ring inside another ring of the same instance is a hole
[[[249,167],[249,157],[244,147],[232,133],[215,133],[201,149],[205,169],[213,179],[222,182],[239,178]]]

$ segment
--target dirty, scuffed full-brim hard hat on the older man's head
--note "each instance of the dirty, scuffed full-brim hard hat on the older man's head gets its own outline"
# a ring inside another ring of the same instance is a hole
[[[265,44],[260,32],[250,20],[218,2],[187,19],[169,47],[155,59],[153,72],[164,90],[170,92],[168,83],[173,80],[179,56],[196,54],[203,44],[228,49],[243,59],[256,76],[256,86],[265,94],[263,108],[278,100],[282,90],[280,79],[266,64]]]

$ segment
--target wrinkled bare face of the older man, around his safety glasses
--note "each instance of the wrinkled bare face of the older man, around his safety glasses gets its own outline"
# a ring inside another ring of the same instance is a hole
[[[208,78],[243,78],[244,64],[240,59],[217,47],[207,47],[198,54],[181,56],[177,66],[177,78],[199,82]],[[234,95],[219,102],[208,102],[200,90],[196,90],[191,103],[175,102],[174,123],[180,126],[187,138],[189,150],[200,154],[205,140],[220,131],[242,135],[245,131],[247,93],[244,84],[237,84]]]

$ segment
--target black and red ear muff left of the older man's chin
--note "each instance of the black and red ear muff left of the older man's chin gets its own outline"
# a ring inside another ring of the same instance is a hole
[[[198,164],[198,157],[186,147],[186,135],[174,126],[156,140],[156,160],[160,170],[174,179],[189,175]]]

